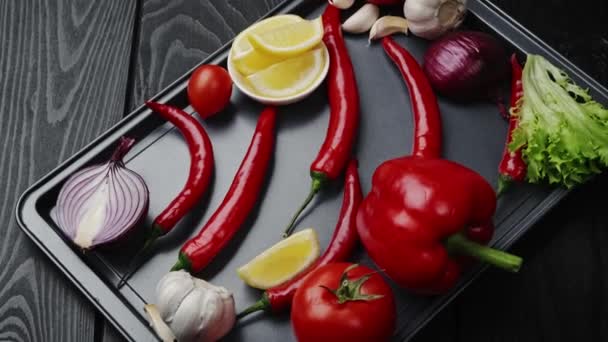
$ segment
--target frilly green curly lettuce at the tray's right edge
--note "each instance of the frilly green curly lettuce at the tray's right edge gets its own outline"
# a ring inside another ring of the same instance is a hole
[[[542,56],[528,55],[519,127],[509,149],[522,148],[527,180],[567,188],[608,166],[608,109]]]

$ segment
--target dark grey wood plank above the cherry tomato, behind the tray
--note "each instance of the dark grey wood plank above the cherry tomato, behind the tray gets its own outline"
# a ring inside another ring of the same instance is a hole
[[[282,0],[143,1],[129,106],[139,106]]]

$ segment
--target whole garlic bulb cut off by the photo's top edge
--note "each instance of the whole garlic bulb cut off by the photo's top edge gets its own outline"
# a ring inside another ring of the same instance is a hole
[[[409,30],[418,37],[436,39],[460,26],[466,13],[466,0],[407,0],[403,14]]]

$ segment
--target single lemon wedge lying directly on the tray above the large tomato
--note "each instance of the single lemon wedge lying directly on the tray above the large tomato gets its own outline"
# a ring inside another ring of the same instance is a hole
[[[311,228],[281,240],[237,270],[243,281],[266,290],[305,270],[319,257],[319,240]]]

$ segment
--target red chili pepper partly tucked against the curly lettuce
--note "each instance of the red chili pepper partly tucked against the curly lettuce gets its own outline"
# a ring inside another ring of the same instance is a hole
[[[520,105],[521,98],[524,95],[523,83],[521,81],[522,68],[517,61],[517,56],[511,56],[511,116],[509,117],[509,132],[507,133],[507,142],[502,154],[502,160],[498,166],[498,190],[500,196],[512,182],[521,182],[526,178],[526,162],[522,158],[521,148],[511,151],[509,144],[513,140],[513,131],[518,126],[519,119],[517,115],[513,115],[513,111],[517,110]]]

